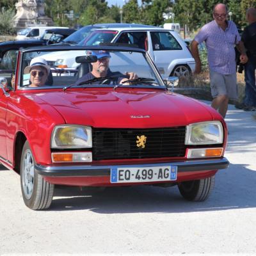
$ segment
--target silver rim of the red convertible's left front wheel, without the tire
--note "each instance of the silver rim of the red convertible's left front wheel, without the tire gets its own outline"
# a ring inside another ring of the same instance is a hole
[[[22,187],[27,199],[31,198],[34,188],[34,162],[30,150],[26,150],[22,164]]]

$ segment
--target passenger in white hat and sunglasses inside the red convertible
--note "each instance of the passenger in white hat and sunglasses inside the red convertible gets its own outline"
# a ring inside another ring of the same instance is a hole
[[[29,87],[44,86],[50,72],[51,67],[41,57],[33,58],[30,65],[24,69],[24,74],[30,74]]]

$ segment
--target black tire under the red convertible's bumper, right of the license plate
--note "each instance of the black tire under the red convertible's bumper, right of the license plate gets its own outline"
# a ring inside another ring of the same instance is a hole
[[[204,201],[214,188],[215,176],[201,179],[184,181],[178,184],[180,194],[189,201]]]

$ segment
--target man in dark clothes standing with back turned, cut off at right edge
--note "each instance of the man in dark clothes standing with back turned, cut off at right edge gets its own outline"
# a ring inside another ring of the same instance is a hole
[[[244,65],[245,96],[243,109],[245,111],[256,110],[256,9],[249,8],[246,11],[246,20],[249,25],[244,28],[242,41],[247,50],[248,62]]]

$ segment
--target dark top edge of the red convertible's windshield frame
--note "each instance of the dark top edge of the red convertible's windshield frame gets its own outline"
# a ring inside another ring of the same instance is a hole
[[[33,46],[26,49],[21,49],[22,52],[30,51],[65,51],[65,50],[106,50],[106,51],[131,51],[131,52],[146,52],[144,49],[137,47],[127,47],[126,45],[120,44],[108,44],[108,45],[97,45],[97,46],[79,46],[79,45],[42,45],[42,46]]]

